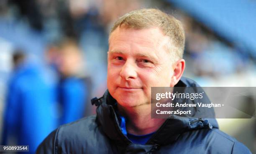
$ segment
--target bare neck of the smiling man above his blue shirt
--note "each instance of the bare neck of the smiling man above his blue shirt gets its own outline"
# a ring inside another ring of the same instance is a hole
[[[136,107],[123,107],[118,104],[118,111],[126,117],[126,130],[130,134],[145,135],[159,129],[166,119],[151,119],[151,104]]]

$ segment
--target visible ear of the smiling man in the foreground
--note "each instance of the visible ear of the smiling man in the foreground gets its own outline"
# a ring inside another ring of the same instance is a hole
[[[179,61],[175,62],[172,68],[173,68],[173,76],[172,76],[172,82],[170,86],[174,87],[182,77],[182,74],[185,69],[185,60],[180,59]]]

